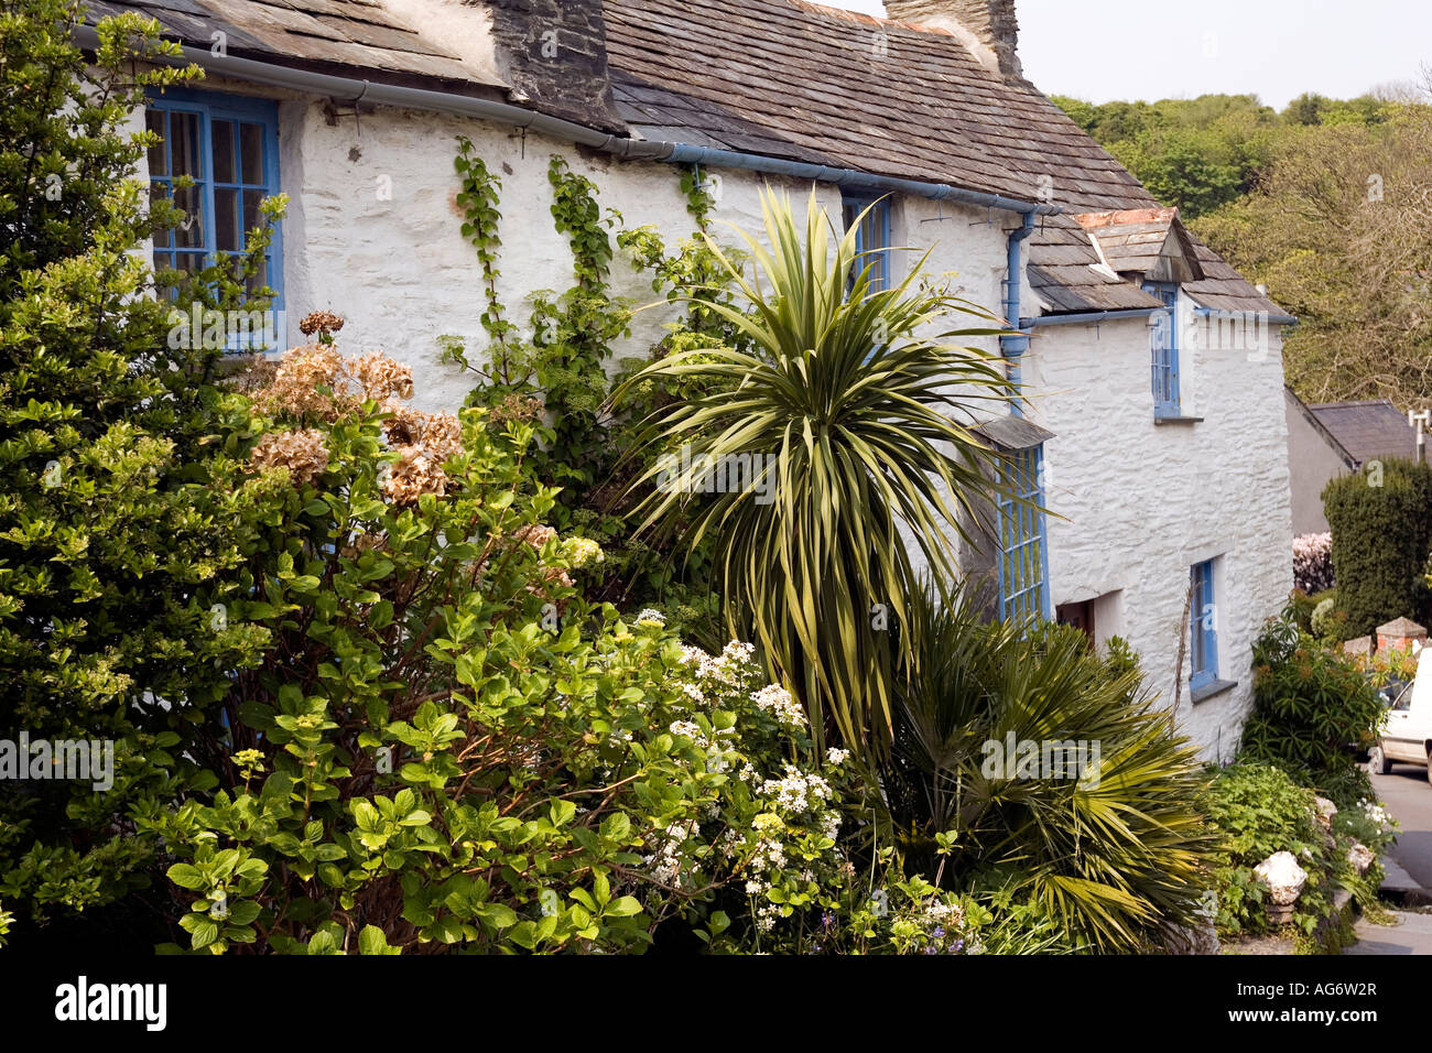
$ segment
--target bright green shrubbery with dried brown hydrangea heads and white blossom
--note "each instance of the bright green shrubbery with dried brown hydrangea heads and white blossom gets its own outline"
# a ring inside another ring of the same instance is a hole
[[[457,441],[326,341],[246,383],[266,533],[229,615],[274,648],[233,675],[219,789],[143,818],[189,947],[779,948],[839,905],[845,756],[750,645],[583,600],[601,552],[541,521],[530,424],[467,410]]]

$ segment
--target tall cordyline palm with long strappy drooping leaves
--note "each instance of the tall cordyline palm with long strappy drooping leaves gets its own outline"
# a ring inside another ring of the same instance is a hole
[[[770,249],[742,232],[753,278],[707,238],[735,307],[705,305],[742,334],[742,350],[673,354],[616,397],[652,377],[696,381],[705,394],[659,411],[646,438],[664,450],[689,446],[696,466],[766,457],[756,489],[773,499],[758,500],[755,489],[693,494],[699,471],[673,483],[659,461],[640,480],[657,484],[640,530],[680,521],[689,549],[710,536],[727,628],[752,633],[772,673],[805,703],[818,745],[833,728],[848,746],[879,756],[891,738],[896,630],[919,563],[952,582],[954,539],[968,536],[962,517],[995,489],[994,454],[971,431],[969,408],[1004,404],[1012,388],[994,355],[959,341],[1002,330],[972,304],[932,291],[924,258],[898,285],[874,288],[875,262],[862,258],[872,254],[856,249],[859,223],[832,249],[813,193],[805,231],[788,198],[768,193],[762,206]],[[955,314],[984,325],[954,328]]]

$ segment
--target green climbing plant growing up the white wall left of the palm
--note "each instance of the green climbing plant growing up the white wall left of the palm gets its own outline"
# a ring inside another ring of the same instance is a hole
[[[540,400],[544,441],[531,467],[534,477],[563,487],[554,523],[566,533],[599,540],[607,552],[601,580],[591,583],[590,596],[621,606],[662,603],[677,628],[696,638],[709,628],[715,639],[719,607],[706,585],[706,554],[683,552],[677,562],[660,540],[636,542],[624,514],[633,503],[630,480],[647,467],[646,460],[626,456],[642,446],[636,434],[640,423],[650,411],[690,393],[679,385],[649,384],[623,415],[604,410],[614,384],[652,358],[739,338],[709,309],[712,302],[732,299],[729,275],[702,236],[715,206],[713,181],[696,168],[682,170],[682,193],[697,229],[672,251],[654,226],[626,229],[616,209],[601,208],[597,185],[554,156],[547,169],[551,216],[571,249],[573,284],[563,292],[530,294],[531,335],[523,340],[498,292],[501,179],[468,139],[458,140],[454,166],[461,181],[457,203],[464,216],[463,235],[473,242],[481,268],[485,308],[480,321],[488,337],[484,362],[470,360],[460,340],[441,338],[445,360],[478,377],[468,404],[500,410],[494,413],[500,425],[514,397],[531,404]],[[654,347],[619,360],[620,371],[609,380],[609,364],[620,341],[630,335],[632,318],[632,305],[611,295],[614,245],[633,266],[650,272],[653,292],[684,304],[684,311]]]

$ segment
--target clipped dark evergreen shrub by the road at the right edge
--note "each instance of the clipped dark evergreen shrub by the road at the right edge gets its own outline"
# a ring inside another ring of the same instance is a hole
[[[1415,616],[1432,542],[1432,467],[1396,458],[1369,461],[1323,487],[1323,511],[1333,534],[1337,610],[1346,619],[1346,636]]]

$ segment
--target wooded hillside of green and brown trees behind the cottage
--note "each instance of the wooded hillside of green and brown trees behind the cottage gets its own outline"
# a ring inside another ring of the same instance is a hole
[[[1299,325],[1310,403],[1432,404],[1432,74],[1358,99],[1252,95],[1093,105],[1055,96]]]

